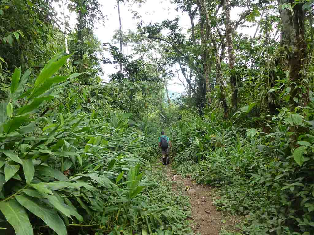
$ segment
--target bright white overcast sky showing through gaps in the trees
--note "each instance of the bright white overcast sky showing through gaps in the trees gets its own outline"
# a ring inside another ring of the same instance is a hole
[[[102,13],[107,15],[107,20],[105,21],[105,26],[101,23],[97,25],[94,29],[94,34],[98,37],[101,43],[111,42],[114,32],[119,29],[119,18],[118,18],[118,9],[116,7],[115,0],[99,0],[102,6]],[[187,13],[181,13],[181,11],[176,12],[176,5],[170,3],[170,0],[147,0],[146,3],[142,4],[142,7],[139,8],[138,5],[133,6],[133,10],[136,10],[141,16],[141,19],[133,19],[133,14],[129,11],[129,5],[120,3],[120,13],[122,19],[122,31],[127,32],[128,29],[136,31],[136,25],[139,20],[142,20],[145,24],[161,23],[165,19],[174,19],[176,16],[179,16],[179,26],[183,28],[183,33],[190,27],[190,18]],[[238,19],[238,14],[242,12],[241,8],[233,9],[231,14],[231,20]],[[69,14],[65,12],[65,14]],[[70,14],[70,25],[74,25],[76,22],[75,13]],[[197,20],[195,20],[195,24]],[[249,34],[253,36],[255,33],[256,27],[253,28],[241,28],[238,29],[238,32]],[[116,45],[120,48],[119,45]],[[127,53],[127,48],[123,48],[123,53]],[[130,48],[128,48],[128,53],[130,53]],[[116,70],[112,65],[103,65],[105,71],[105,76],[103,77],[104,81],[108,81],[108,75],[115,73]],[[174,68],[175,71],[175,68]],[[181,75],[182,76],[182,75]],[[181,78],[183,81],[183,79]],[[184,91],[184,87],[177,77],[172,79],[170,82],[171,85],[168,86],[168,89],[172,92],[181,93]]]

